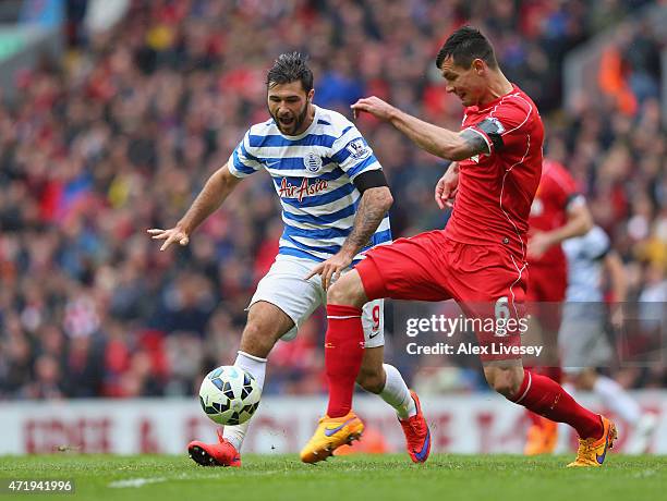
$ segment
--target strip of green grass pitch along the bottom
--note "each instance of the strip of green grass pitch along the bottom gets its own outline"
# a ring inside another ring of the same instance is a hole
[[[565,468],[571,456],[403,454],[336,457],[244,455],[242,468],[207,468],[166,455],[0,456],[0,478],[73,478],[85,500],[639,500],[664,499],[667,456],[609,454],[602,468]],[[25,494],[0,493],[1,499]]]

